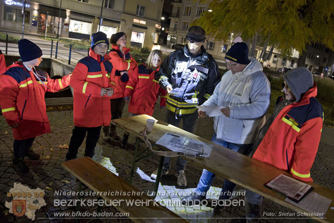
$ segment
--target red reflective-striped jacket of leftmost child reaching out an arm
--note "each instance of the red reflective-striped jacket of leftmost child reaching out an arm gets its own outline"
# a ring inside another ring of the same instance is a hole
[[[39,75],[47,78],[45,85],[35,78],[21,62],[9,66],[0,75],[0,105],[8,125],[20,123],[13,128],[14,139],[24,140],[50,133],[44,95],[67,87],[70,76],[51,79],[47,72],[36,68]]]

